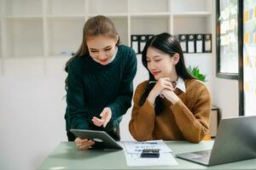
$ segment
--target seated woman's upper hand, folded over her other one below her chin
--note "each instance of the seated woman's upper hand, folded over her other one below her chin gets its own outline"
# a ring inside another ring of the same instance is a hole
[[[154,88],[148,94],[148,101],[152,105],[154,105],[155,98],[161,94],[163,89],[173,90],[170,77],[160,78],[154,85]]]

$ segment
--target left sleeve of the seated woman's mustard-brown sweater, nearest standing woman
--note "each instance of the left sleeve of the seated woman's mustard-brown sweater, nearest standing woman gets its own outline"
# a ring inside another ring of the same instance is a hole
[[[144,90],[141,84],[137,87],[134,94],[134,105],[129,123],[131,136],[139,141],[152,139],[152,133],[154,131],[154,105],[151,105],[148,99],[145,100],[142,106],[139,105],[139,99],[143,93]]]

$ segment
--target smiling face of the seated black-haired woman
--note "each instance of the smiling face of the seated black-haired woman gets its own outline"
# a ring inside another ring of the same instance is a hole
[[[178,62],[179,55],[166,54],[159,49],[149,47],[147,50],[148,70],[154,75],[155,80],[163,77],[177,77],[175,65]]]

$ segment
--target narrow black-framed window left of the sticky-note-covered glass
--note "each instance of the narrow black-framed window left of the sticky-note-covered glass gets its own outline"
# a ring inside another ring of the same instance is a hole
[[[217,77],[238,79],[242,57],[240,0],[218,0],[216,7]]]

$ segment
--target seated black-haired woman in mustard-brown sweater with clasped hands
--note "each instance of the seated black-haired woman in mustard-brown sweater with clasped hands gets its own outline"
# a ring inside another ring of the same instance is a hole
[[[135,91],[129,123],[133,138],[200,142],[209,130],[211,95],[187,71],[177,39],[168,33],[150,38],[143,65],[149,80]]]

